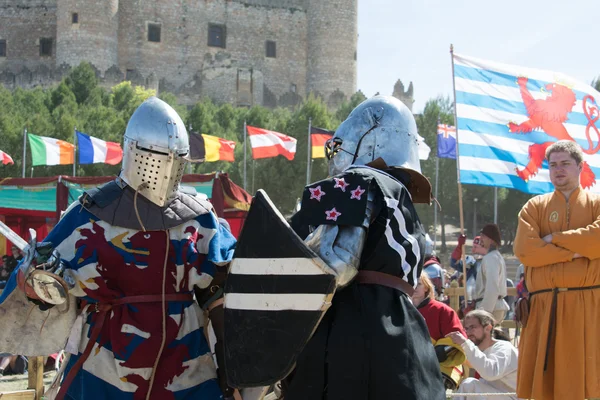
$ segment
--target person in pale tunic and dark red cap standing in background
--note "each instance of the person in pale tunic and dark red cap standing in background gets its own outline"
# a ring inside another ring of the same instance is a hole
[[[496,224],[487,224],[481,230],[481,243],[487,254],[481,260],[481,270],[475,279],[475,307],[494,316],[498,322],[504,320],[510,309],[506,297],[506,265],[498,251],[501,243],[500,229]]]

